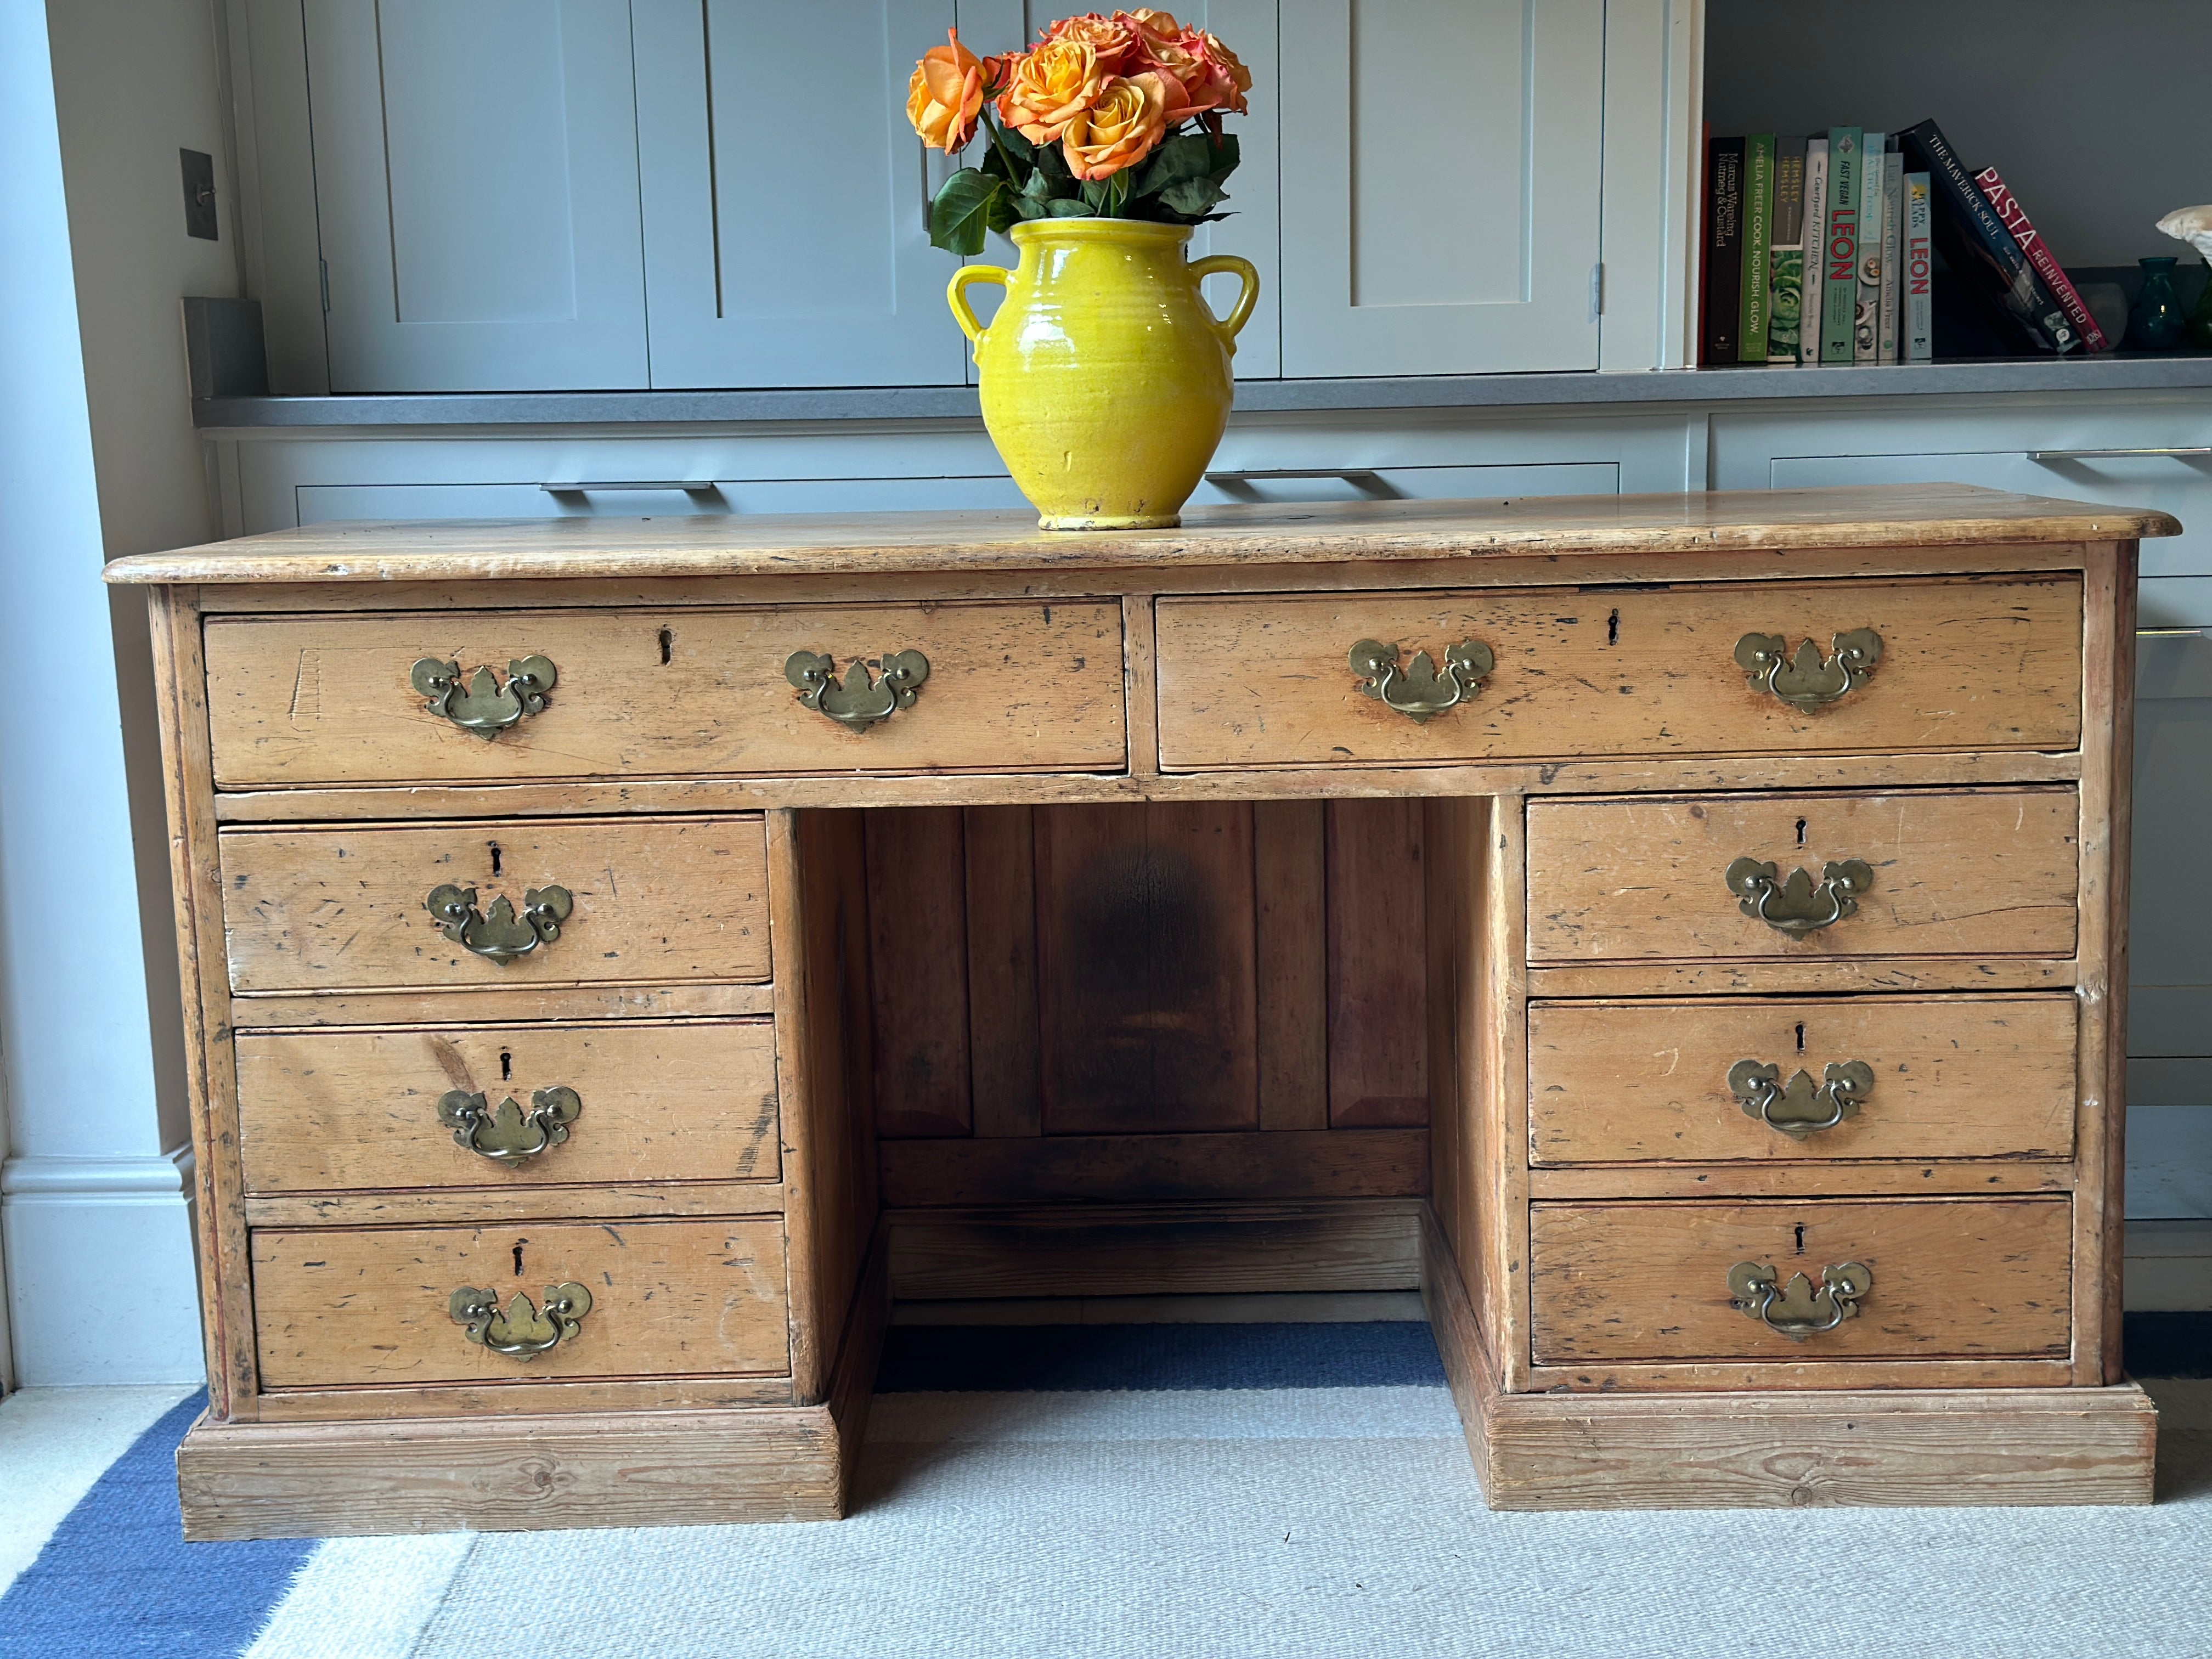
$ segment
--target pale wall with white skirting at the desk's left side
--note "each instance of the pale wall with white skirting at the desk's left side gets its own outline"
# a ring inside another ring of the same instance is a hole
[[[206,0],[0,0],[0,1234],[27,1385],[204,1367],[146,624],[100,564],[210,535],[179,299],[237,294],[237,268],[184,234],[177,150],[223,155],[212,27]]]

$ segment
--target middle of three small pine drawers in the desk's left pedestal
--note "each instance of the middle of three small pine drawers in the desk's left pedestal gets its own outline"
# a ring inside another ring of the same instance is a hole
[[[246,1033],[237,1060],[248,1192],[779,1175],[768,1020]]]

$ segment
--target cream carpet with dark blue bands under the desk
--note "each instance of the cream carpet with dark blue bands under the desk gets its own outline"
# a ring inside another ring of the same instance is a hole
[[[896,1327],[883,1385],[838,1524],[323,1544],[177,1544],[181,1407],[0,1659],[2212,1655],[2208,1380],[2152,1509],[1646,1515],[1482,1509],[1411,1323]]]

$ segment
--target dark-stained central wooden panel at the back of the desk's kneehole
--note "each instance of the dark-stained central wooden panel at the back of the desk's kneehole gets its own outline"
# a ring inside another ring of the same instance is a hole
[[[1252,810],[1037,818],[1044,1133],[1259,1126]]]

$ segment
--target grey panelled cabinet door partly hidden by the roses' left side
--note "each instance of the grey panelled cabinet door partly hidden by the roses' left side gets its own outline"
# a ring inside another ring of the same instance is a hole
[[[653,385],[960,385],[945,161],[905,117],[953,0],[630,11]]]

